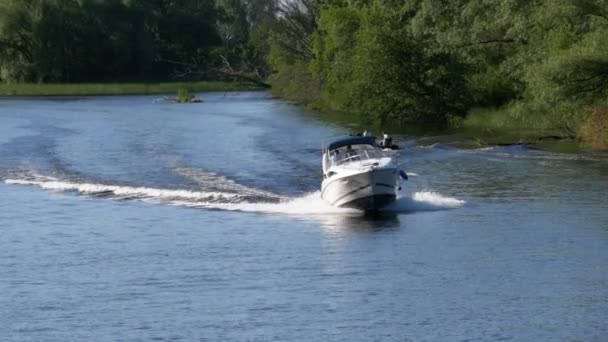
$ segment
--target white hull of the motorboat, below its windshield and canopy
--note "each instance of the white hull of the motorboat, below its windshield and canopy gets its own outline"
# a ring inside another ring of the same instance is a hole
[[[332,206],[377,210],[395,201],[399,171],[379,168],[348,176],[330,177],[322,183],[321,197]]]

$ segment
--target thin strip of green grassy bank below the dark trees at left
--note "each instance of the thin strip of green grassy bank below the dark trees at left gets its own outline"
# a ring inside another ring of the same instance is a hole
[[[0,96],[92,96],[176,94],[190,92],[244,91],[260,88],[239,82],[163,82],[163,83],[16,83],[0,84]]]

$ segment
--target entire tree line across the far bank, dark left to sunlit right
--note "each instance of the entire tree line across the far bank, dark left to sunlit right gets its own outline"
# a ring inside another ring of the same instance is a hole
[[[168,77],[385,125],[488,108],[601,140],[608,0],[0,0],[4,82]]]

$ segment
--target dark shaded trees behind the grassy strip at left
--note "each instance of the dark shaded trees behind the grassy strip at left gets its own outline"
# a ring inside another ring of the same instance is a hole
[[[0,0],[0,79],[217,79],[263,60],[249,30],[266,8],[264,0]]]

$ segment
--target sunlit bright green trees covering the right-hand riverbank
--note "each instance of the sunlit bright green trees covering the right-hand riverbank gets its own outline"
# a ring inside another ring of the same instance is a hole
[[[385,125],[476,124],[460,118],[477,108],[504,127],[608,137],[597,127],[608,106],[606,0],[300,2],[309,5],[294,16],[316,23],[300,30],[311,53],[269,38],[281,96]],[[317,91],[299,93],[308,88]]]

